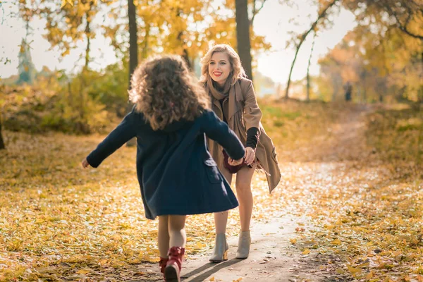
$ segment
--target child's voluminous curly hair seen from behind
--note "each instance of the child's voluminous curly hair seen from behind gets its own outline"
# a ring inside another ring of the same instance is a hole
[[[130,101],[153,130],[173,121],[193,121],[209,109],[209,97],[180,56],[164,55],[137,66],[131,78]]]

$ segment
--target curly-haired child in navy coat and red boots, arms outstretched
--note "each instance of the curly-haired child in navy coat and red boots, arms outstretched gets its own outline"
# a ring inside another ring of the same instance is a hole
[[[241,164],[244,146],[210,110],[209,97],[179,56],[149,59],[135,70],[135,103],[82,166],[97,168],[125,142],[137,137],[137,178],[147,219],[159,216],[158,245],[166,281],[180,281],[187,214],[223,212],[238,206],[206,145],[216,140]]]

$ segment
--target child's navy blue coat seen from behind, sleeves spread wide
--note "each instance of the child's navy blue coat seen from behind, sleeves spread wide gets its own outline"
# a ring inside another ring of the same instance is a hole
[[[233,159],[244,157],[238,137],[213,111],[204,111],[195,121],[178,121],[164,130],[152,130],[143,114],[133,110],[87,161],[96,168],[137,137],[137,177],[147,219],[223,212],[237,207],[238,201],[207,150],[206,135]]]

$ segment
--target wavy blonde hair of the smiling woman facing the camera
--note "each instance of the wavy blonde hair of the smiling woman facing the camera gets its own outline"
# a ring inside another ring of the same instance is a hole
[[[231,63],[231,71],[232,71],[232,81],[231,84],[235,84],[235,82],[240,78],[246,78],[245,71],[243,65],[241,64],[240,56],[238,55],[235,50],[229,46],[228,44],[217,44],[214,45],[212,48],[207,51],[207,53],[201,59],[201,75],[200,82],[207,82],[209,80],[209,63],[212,60],[212,56],[214,53],[223,52],[228,54],[229,63]],[[212,85],[209,85],[212,87]]]

